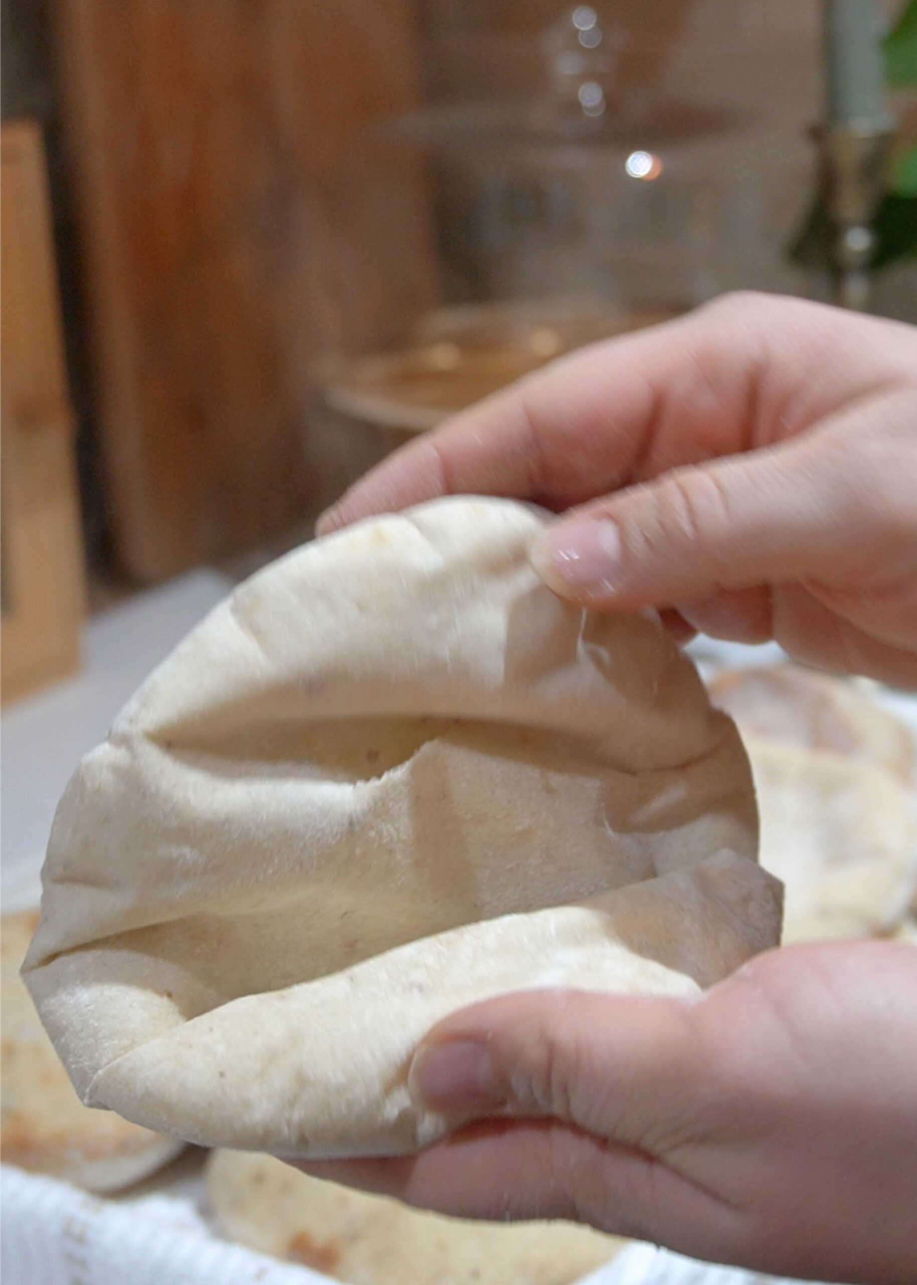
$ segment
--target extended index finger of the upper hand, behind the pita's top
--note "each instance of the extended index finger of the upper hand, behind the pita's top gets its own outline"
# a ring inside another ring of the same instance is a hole
[[[762,445],[778,432],[771,425],[787,423],[786,386],[823,364],[845,325],[844,315],[819,305],[731,297],[591,344],[402,447],[319,529],[443,495],[501,495],[561,510]],[[835,397],[844,382],[832,383]]]

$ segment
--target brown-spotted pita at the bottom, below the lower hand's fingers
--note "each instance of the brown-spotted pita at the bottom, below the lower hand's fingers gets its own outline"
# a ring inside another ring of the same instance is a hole
[[[230,1240],[348,1285],[569,1285],[625,1244],[565,1222],[421,1213],[244,1151],[211,1156],[207,1191]]]

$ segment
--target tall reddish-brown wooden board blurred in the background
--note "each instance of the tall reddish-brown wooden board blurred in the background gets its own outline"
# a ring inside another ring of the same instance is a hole
[[[410,0],[57,8],[114,546],[150,581],[330,499],[304,450],[320,430],[315,364],[354,310],[378,320],[405,303],[374,294],[371,269],[348,274],[354,211],[339,180],[357,132],[415,102],[412,12]],[[401,258],[406,289],[423,292],[425,203],[419,185],[401,191],[384,224],[367,206],[357,239]]]

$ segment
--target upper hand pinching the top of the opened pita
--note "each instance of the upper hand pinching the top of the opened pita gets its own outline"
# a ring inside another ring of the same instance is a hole
[[[457,415],[320,531],[447,493],[581,506],[533,549],[575,603],[917,686],[912,326],[727,296]]]

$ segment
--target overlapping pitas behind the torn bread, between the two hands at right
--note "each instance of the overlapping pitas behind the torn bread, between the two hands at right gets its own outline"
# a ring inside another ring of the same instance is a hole
[[[794,664],[710,684],[751,758],[783,942],[917,939],[914,743],[869,687]]]

